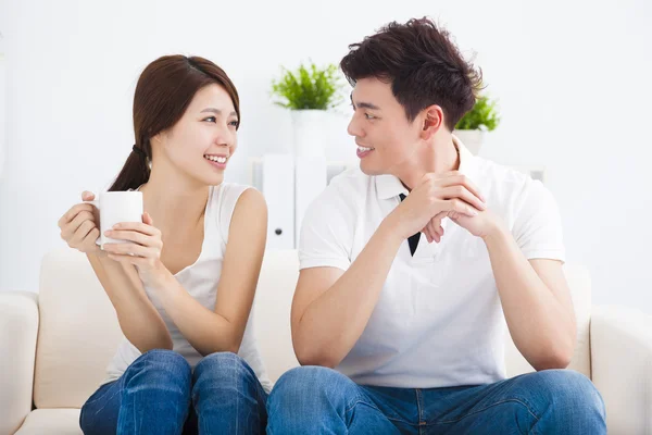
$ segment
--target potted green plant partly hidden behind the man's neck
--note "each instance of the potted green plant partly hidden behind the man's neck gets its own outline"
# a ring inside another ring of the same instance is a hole
[[[453,134],[472,153],[477,154],[485,140],[485,134],[496,129],[499,124],[497,101],[480,96],[473,109],[455,125]]]

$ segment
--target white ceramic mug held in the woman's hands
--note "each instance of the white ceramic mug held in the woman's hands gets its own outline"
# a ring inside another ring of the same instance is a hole
[[[104,244],[130,243],[106,237],[104,233],[122,222],[142,222],[141,191],[103,191],[95,200],[85,202],[100,211],[100,237],[96,243],[101,249],[104,249]]]

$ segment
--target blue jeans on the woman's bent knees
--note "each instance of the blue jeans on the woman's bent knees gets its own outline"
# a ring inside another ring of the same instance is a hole
[[[179,353],[150,350],[84,405],[86,435],[264,434],[267,394],[231,352],[212,353],[195,371]]]

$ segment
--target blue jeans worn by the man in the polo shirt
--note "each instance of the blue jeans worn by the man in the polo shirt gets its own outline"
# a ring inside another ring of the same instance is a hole
[[[414,389],[362,386],[331,369],[302,366],[276,383],[267,413],[268,435],[606,433],[602,397],[569,370]]]

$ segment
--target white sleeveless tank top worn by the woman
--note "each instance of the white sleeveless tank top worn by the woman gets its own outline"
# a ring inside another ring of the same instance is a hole
[[[218,186],[211,186],[204,214],[204,239],[199,258],[193,264],[174,275],[179,284],[199,303],[211,311],[215,309],[217,283],[222,275],[222,264],[224,253],[226,252],[228,229],[234,209],[240,195],[248,188],[249,186],[233,183],[222,183]],[[167,331],[170,331],[173,350],[180,353],[195,368],[202,359],[201,353],[195,350],[190,343],[181,335],[180,331],[161,306],[155,291],[148,288],[148,286],[145,286],[145,290],[156,310],[159,310],[161,318],[163,318]],[[108,378],[103,383],[105,384],[120,378],[140,355],[141,352],[138,348],[125,338],[118,346],[117,352],[106,369]],[[238,355],[253,369],[265,391],[269,393],[272,383],[265,372],[263,360],[261,359],[253,335],[253,315],[251,313],[247,321]]]

